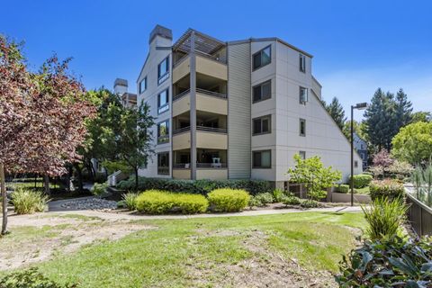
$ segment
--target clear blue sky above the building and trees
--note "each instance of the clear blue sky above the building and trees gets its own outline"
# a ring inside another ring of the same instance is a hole
[[[402,87],[414,110],[432,111],[430,1],[2,0],[0,9],[0,33],[25,41],[32,67],[54,51],[73,57],[87,89],[123,77],[135,92],[159,23],[175,40],[189,27],[220,40],[280,37],[314,55],[323,97],[338,96],[346,110],[377,87]]]

